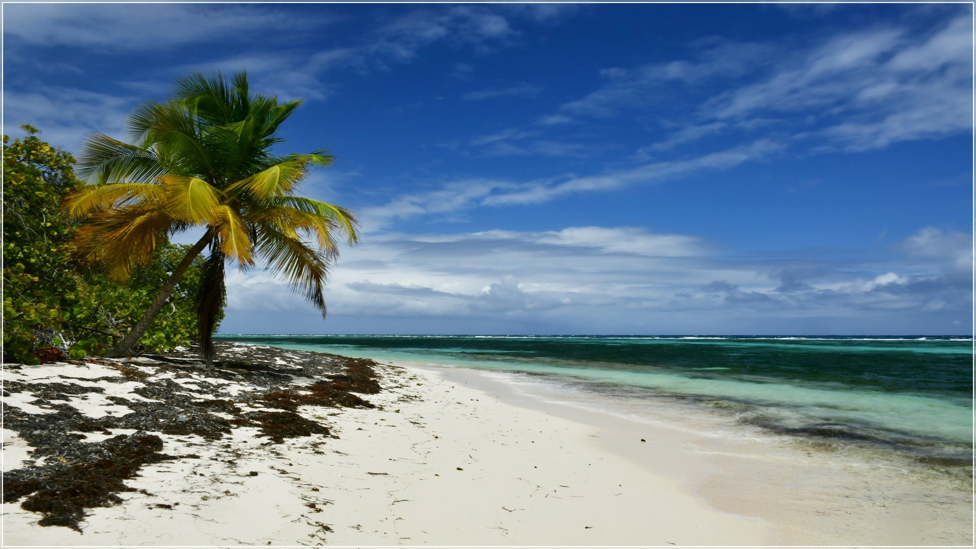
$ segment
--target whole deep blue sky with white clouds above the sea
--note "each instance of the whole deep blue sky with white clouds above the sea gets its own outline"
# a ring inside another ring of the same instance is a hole
[[[246,68],[356,210],[323,321],[224,333],[971,334],[969,4],[5,4],[4,132]],[[184,241],[192,235],[184,235]]]

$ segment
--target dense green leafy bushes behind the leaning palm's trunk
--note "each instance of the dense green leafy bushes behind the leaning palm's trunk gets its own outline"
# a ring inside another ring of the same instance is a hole
[[[10,143],[3,136],[4,360],[38,363],[62,353],[100,353],[142,316],[189,246],[164,243],[124,285],[101,269],[72,263],[67,242],[76,227],[65,220],[60,203],[65,192],[82,185],[74,177],[74,158],[42,142],[37,129],[21,128],[28,133],[23,140]],[[195,336],[199,264],[187,270],[140,349],[163,352]]]

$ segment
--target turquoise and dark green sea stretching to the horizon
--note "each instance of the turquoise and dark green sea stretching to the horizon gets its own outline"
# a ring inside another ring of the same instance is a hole
[[[534,374],[573,391],[674,402],[762,430],[966,467],[973,342],[960,337],[320,336],[220,339]]]

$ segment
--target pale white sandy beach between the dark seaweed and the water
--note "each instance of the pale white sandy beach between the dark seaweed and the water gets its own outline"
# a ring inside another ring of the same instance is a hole
[[[50,413],[34,400],[31,383],[84,385],[86,379],[114,376],[119,378],[114,383],[102,381],[112,386],[105,393],[113,398],[89,394],[69,403],[93,418],[124,415],[125,400],[120,399],[138,401],[143,397],[133,391],[141,383],[170,375],[155,367],[130,364],[126,374],[98,363],[23,366],[5,371],[5,378],[27,390],[5,394],[4,401],[27,413]],[[767,499],[765,506],[757,506],[761,498],[742,492],[742,486],[738,492],[722,491],[721,480],[734,476],[736,468],[755,476],[749,468],[762,463],[689,451],[687,433],[533,400],[476,372],[395,365],[373,369],[383,390],[362,397],[376,407],[298,407],[303,417],[327,426],[328,434],[272,443],[261,429],[247,425],[217,440],[152,433],[162,440],[162,452],[180,458],[143,465],[137,477],[125,481],[131,491],[119,494],[121,504],[87,509],[79,531],[38,526],[41,515],[23,510],[20,501],[5,503],[3,544],[775,546],[889,541],[871,532],[855,540],[850,532],[864,527],[837,517],[820,515],[804,524],[793,520],[797,513],[770,513],[776,502]],[[132,378],[134,370],[142,371],[142,381]],[[220,387],[224,395],[268,390],[247,375],[226,377],[216,384],[213,372],[195,368],[171,376],[176,387],[197,399],[215,398],[204,386]],[[307,381],[293,383],[301,387]],[[261,408],[257,402],[252,406]],[[135,436],[136,431],[111,431],[111,436],[120,434]],[[86,436],[88,442],[109,437]],[[4,471],[35,457],[30,449],[5,428]],[[59,458],[70,459],[48,459]],[[813,502],[813,509],[822,503]],[[799,511],[799,516],[806,512]],[[891,526],[886,516],[878,517],[880,522],[869,529],[886,531]]]

